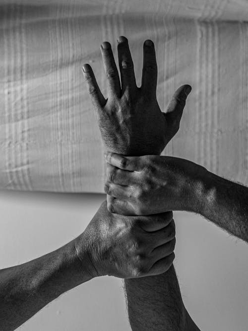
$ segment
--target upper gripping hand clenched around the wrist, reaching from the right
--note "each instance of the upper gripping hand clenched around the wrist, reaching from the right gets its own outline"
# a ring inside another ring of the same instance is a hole
[[[105,193],[108,210],[122,215],[147,215],[167,210],[198,212],[204,191],[202,166],[170,156],[127,157],[106,153]]]

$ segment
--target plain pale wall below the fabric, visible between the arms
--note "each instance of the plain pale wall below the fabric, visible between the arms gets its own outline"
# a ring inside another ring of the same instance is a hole
[[[0,192],[0,267],[27,262],[80,234],[104,195]],[[248,246],[205,219],[174,212],[175,267],[202,331],[248,330]],[[129,331],[122,280],[100,277],[63,294],[21,331]]]

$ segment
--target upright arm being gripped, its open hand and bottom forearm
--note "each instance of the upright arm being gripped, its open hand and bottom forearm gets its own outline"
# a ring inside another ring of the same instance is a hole
[[[128,41],[124,36],[119,37],[118,41],[121,83],[111,45],[104,42],[103,46],[108,48],[101,49],[107,76],[107,101],[91,66],[83,66],[103,141],[109,152],[129,156],[159,155],[179,130],[186,96],[191,87],[179,87],[166,112],[162,113],[156,99],[157,63],[153,42],[149,41],[151,46],[144,43],[142,83],[137,87]],[[113,199],[107,195],[108,208]],[[125,279],[125,290],[132,330],[199,330],[183,304],[173,265],[160,275]]]

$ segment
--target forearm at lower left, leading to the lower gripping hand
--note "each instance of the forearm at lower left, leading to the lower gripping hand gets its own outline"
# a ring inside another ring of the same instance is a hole
[[[15,330],[62,293],[91,278],[77,260],[74,241],[38,259],[0,270],[0,330]]]

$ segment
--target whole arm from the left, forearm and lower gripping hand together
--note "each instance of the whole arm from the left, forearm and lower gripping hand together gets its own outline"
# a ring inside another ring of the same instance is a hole
[[[110,213],[105,200],[75,240],[0,270],[0,330],[15,330],[62,293],[94,277],[165,272],[175,258],[174,248],[172,212],[127,217]]]

